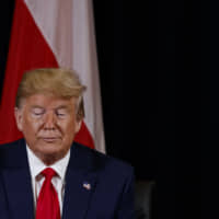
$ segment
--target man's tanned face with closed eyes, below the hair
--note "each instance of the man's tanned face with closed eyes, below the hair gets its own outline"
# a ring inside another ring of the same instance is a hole
[[[46,164],[66,155],[80,129],[76,102],[74,97],[65,100],[35,94],[15,108],[18,128],[30,149]]]

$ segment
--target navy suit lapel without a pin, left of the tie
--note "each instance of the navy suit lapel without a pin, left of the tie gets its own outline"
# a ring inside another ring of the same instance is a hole
[[[1,173],[11,218],[34,218],[34,199],[25,141],[1,151]]]

